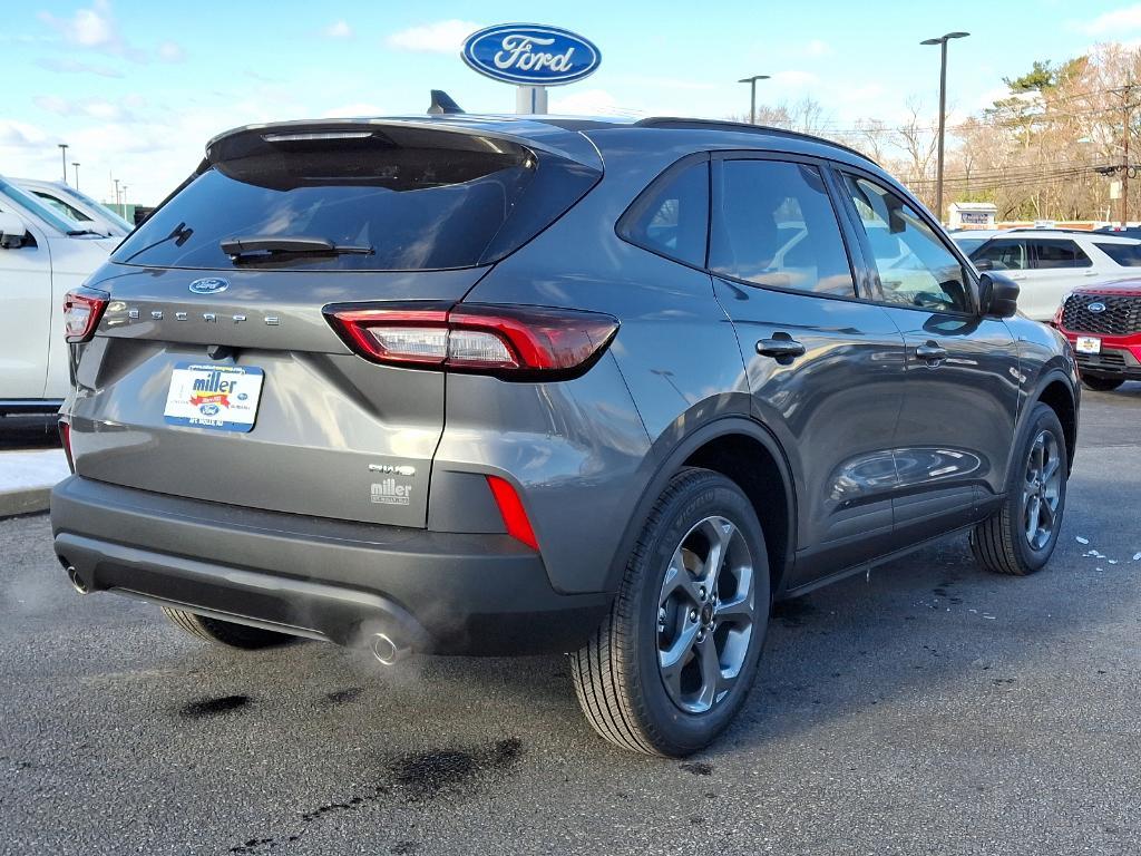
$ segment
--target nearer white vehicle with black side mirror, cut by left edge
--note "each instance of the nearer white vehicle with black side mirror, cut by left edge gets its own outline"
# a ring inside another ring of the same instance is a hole
[[[59,307],[116,243],[0,178],[0,415],[59,409],[71,388]]]

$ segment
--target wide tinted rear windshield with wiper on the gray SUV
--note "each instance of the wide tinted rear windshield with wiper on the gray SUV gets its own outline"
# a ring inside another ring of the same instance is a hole
[[[372,135],[277,135],[281,142],[265,134],[229,145],[113,260],[213,269],[471,267],[529,240],[597,180],[557,158],[540,165],[531,150],[502,140],[439,131],[411,140]],[[540,173],[547,180],[536,181]],[[536,194],[545,199],[527,199]],[[253,237],[319,239],[354,251],[232,257],[220,245]]]

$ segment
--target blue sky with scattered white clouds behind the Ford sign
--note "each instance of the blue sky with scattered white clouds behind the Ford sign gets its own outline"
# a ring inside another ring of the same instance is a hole
[[[0,173],[67,178],[113,200],[155,204],[228,128],[323,116],[421,113],[428,90],[468,112],[515,110],[511,86],[459,57],[468,33],[524,21],[573,30],[602,54],[592,76],[552,88],[552,113],[741,116],[810,96],[828,127],[898,123],[909,102],[938,106],[950,43],[948,107],[981,110],[1035,59],[1103,41],[1141,43],[1141,2],[1122,0],[807,0],[775,3],[394,3],[385,0],[22,0],[0,29]]]

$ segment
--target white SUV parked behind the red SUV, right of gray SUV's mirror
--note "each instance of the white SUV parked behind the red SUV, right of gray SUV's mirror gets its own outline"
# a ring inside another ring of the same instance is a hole
[[[1141,266],[1141,241],[1102,232],[1018,229],[970,256],[980,270],[1001,270],[1019,284],[1023,314],[1050,321],[1075,288],[1120,280]]]

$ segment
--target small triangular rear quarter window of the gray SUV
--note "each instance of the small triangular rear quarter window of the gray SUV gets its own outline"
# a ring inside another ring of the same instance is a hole
[[[703,161],[652,185],[623,217],[618,233],[647,250],[704,267],[709,212],[709,162]]]

